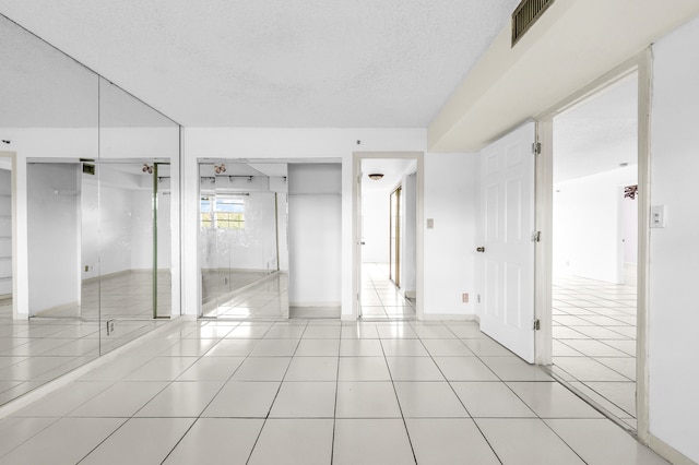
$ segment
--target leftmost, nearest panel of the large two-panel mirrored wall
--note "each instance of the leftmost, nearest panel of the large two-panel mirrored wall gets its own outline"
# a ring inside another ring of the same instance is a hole
[[[82,318],[80,269],[80,158],[98,157],[99,120],[95,73],[4,16],[0,43],[0,148],[13,159],[17,205],[3,220],[19,233],[3,241],[16,270],[0,303],[4,404],[99,354],[98,323]]]

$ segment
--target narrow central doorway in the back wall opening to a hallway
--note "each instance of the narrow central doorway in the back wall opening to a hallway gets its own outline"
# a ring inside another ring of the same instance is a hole
[[[419,315],[419,158],[355,154],[357,174],[357,315],[411,320]]]

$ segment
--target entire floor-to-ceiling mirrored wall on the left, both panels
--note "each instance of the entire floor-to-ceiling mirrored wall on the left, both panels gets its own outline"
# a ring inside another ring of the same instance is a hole
[[[4,16],[0,41],[3,404],[179,314],[180,128]]]

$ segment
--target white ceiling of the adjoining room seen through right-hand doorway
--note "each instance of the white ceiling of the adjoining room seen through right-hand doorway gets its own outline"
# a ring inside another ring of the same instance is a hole
[[[554,182],[638,163],[636,74],[554,118]]]

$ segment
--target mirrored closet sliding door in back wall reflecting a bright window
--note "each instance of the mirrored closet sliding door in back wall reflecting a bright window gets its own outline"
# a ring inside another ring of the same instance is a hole
[[[287,167],[201,162],[203,318],[288,318]]]

